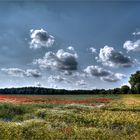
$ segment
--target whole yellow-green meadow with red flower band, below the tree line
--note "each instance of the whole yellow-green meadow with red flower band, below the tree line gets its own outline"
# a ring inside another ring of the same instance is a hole
[[[0,140],[140,140],[140,95],[0,95]]]

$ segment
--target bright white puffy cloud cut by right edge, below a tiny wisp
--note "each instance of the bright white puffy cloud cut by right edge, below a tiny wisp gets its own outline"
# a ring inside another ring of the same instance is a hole
[[[123,48],[126,49],[128,52],[129,51],[140,51],[140,40],[136,40],[136,41],[125,41],[125,43],[123,44]]]

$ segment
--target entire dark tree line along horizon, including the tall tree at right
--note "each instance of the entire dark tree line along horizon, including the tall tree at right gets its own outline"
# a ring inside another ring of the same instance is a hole
[[[79,95],[79,94],[139,94],[140,93],[140,71],[132,74],[129,79],[130,86],[123,85],[114,89],[93,90],[65,90],[43,87],[22,87],[0,89],[0,94],[30,94],[30,95]]]

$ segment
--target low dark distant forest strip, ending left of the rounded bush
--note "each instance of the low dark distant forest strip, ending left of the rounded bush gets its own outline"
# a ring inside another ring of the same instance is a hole
[[[79,94],[120,94],[120,88],[93,89],[93,90],[65,90],[42,87],[22,87],[0,89],[0,94],[26,94],[26,95],[79,95]]]

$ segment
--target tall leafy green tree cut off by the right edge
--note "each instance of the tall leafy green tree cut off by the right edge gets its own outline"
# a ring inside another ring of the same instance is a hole
[[[131,75],[129,83],[133,93],[140,93],[140,71],[136,71],[135,74]]]

